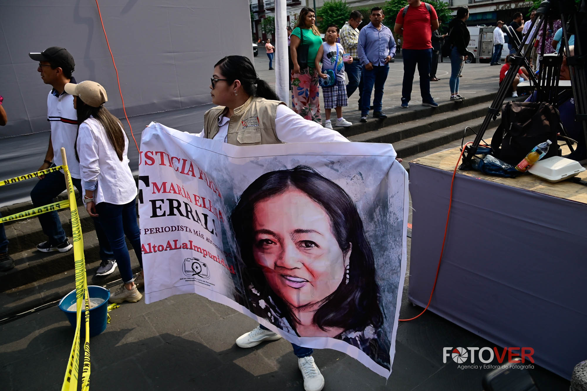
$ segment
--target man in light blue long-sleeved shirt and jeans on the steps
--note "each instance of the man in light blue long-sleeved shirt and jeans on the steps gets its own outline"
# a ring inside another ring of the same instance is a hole
[[[373,117],[387,118],[382,113],[383,86],[389,73],[389,62],[396,55],[396,41],[393,39],[392,31],[381,24],[384,18],[383,10],[380,7],[372,8],[369,18],[371,22],[360,31],[357,46],[357,55],[363,67],[361,122],[367,122],[373,86]]]

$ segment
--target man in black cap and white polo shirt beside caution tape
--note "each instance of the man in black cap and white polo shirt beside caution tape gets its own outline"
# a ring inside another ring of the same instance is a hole
[[[29,53],[29,57],[39,62],[37,71],[41,73],[43,82],[53,87],[47,97],[47,120],[51,126],[49,147],[39,170],[46,170],[53,165],[60,166],[63,163],[60,150],[61,147],[65,147],[73,185],[82,194],[79,163],[75,154],[77,112],[73,108],[73,96],[65,92],[66,83],[76,83],[72,76],[75,62],[66,49],[58,46],[52,46],[41,53]],[[65,175],[62,171],[46,174],[31,191],[33,205],[39,207],[52,203],[53,198],[66,188]],[[116,260],[113,259],[110,244],[104,235],[102,226],[97,218],[93,218],[93,220],[100,244],[100,258],[102,259],[96,275],[107,275],[116,268]],[[71,250],[73,245],[69,243],[56,211],[39,215],[39,222],[43,232],[48,236],[48,240],[37,245],[37,250],[42,252]]]

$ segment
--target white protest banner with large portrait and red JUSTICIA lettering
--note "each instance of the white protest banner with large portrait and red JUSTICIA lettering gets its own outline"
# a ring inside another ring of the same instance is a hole
[[[197,293],[389,377],[409,205],[395,157],[390,144],[237,147],[151,123],[139,162],[145,301]]]

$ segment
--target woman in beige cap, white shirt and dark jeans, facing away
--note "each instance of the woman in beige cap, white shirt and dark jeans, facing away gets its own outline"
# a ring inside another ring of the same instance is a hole
[[[139,301],[134,284],[129,251],[124,235],[129,238],[134,252],[141,259],[141,242],[137,224],[137,188],[126,156],[129,146],[122,123],[104,108],[108,98],[104,87],[96,82],[68,83],[65,91],[73,95],[77,110],[76,158],[79,160],[83,201],[87,213],[98,217],[117,259],[124,284],[110,296],[110,302]]]

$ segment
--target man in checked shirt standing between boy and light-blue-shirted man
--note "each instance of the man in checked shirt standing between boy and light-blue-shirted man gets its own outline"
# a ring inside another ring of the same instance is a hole
[[[350,13],[349,21],[340,29],[340,43],[353,58],[352,63],[345,63],[345,72],[349,75],[349,83],[346,85],[346,97],[353,95],[359,87],[359,109],[361,108],[361,96],[363,95],[363,78],[361,76],[361,62],[357,56],[357,45],[359,45],[359,29],[357,27],[363,21],[363,15],[359,11]]]

